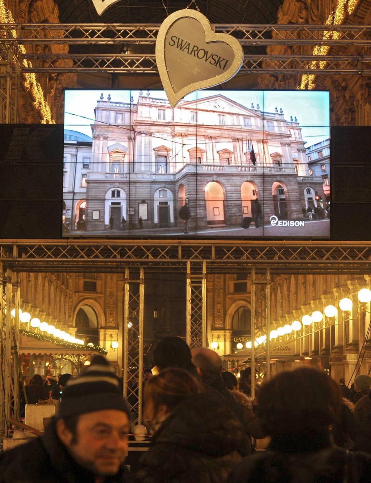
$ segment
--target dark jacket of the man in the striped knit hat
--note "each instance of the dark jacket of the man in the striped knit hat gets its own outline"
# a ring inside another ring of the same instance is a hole
[[[41,387],[41,386],[40,386]],[[104,483],[130,482],[123,470]],[[78,465],[57,437],[53,418],[45,435],[0,455],[0,483],[94,483],[95,475]]]

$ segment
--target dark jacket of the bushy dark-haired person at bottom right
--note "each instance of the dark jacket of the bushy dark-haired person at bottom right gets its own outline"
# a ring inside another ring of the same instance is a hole
[[[346,453],[327,437],[272,440],[234,469],[228,483],[369,483],[371,457]]]

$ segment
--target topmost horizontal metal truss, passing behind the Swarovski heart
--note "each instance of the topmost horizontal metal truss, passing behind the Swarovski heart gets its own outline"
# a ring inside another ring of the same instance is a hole
[[[148,45],[156,43],[159,28],[160,24],[1,24],[0,38],[1,43]],[[212,29],[236,37],[242,45],[371,45],[370,25],[212,24]]]

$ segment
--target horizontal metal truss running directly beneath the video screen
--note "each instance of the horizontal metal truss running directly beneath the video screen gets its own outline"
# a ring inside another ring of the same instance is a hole
[[[1,262],[15,271],[122,271],[186,269],[207,262],[208,272],[270,267],[273,272],[367,273],[371,243],[329,241],[2,241]],[[13,253],[16,256],[10,256]]]

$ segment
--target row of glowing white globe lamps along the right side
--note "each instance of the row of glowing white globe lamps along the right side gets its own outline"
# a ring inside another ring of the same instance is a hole
[[[360,303],[369,303],[371,301],[371,290],[369,288],[362,288],[359,290],[357,294],[358,300]],[[339,301],[339,308],[343,312],[350,312],[353,308],[353,302],[350,298],[342,298]],[[331,318],[335,317],[338,313],[338,309],[334,305],[327,305],[324,309],[324,314],[326,317]],[[298,332],[301,330],[303,326],[310,326],[312,323],[319,323],[322,322],[323,320],[323,313],[320,312],[319,310],[316,310],[312,312],[312,315],[303,315],[301,317],[301,322],[299,320],[294,320],[292,324],[286,324],[284,327],[278,327],[276,329],[271,330],[270,335],[269,335],[269,340],[275,340],[278,337],[282,337],[285,335],[289,335],[292,332]],[[257,345],[262,345],[267,341],[267,336],[262,335],[260,337],[257,337],[254,342],[254,347],[257,347]],[[212,343],[213,347],[214,342]],[[252,341],[247,341],[245,343],[246,349],[251,349],[252,347]],[[213,347],[214,348],[214,347]],[[243,343],[239,342],[236,345],[237,349],[243,349]]]

